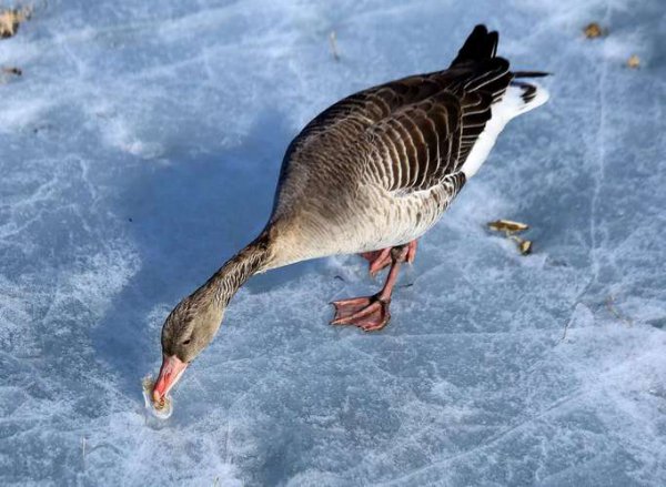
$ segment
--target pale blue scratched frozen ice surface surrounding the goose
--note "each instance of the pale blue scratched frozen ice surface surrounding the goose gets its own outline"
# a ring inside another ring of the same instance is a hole
[[[36,2],[0,41],[0,484],[666,485],[666,8],[581,3]],[[291,138],[481,21],[552,101],[423,239],[391,325],[327,325],[379,285],[357,257],[261,276],[147,422],[164,316],[261,229]]]

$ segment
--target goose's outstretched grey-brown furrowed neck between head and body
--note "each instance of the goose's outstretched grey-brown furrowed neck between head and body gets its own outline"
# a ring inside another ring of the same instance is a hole
[[[258,272],[268,267],[271,260],[268,232],[231,257],[196,292],[205,293],[215,304],[225,308],[233,295]]]

